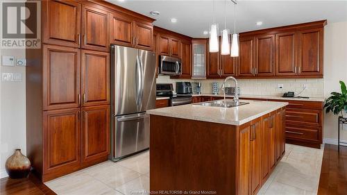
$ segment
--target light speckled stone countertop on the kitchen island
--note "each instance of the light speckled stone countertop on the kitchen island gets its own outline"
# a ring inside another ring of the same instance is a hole
[[[180,119],[192,119],[197,121],[208,121],[219,124],[229,124],[240,126],[278,110],[286,105],[287,102],[275,101],[243,101],[246,105],[240,105],[235,108],[220,108],[196,104],[179,105],[167,108],[158,108],[147,110],[150,115],[160,115],[164,117],[174,117]]]

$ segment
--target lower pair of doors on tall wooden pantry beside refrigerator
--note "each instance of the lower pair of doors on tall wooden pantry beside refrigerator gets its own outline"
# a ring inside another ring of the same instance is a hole
[[[109,105],[44,112],[43,181],[108,159],[109,113]]]

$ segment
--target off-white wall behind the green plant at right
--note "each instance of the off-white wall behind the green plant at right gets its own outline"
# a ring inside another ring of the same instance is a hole
[[[339,80],[347,83],[347,22],[337,22],[324,29],[324,96],[341,92]],[[326,142],[337,143],[337,116],[325,115],[324,138]],[[341,130],[340,139],[347,142],[347,130]]]

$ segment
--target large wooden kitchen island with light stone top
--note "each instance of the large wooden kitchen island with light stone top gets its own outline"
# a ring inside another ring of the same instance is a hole
[[[180,105],[151,115],[153,194],[257,194],[285,154],[285,102]]]

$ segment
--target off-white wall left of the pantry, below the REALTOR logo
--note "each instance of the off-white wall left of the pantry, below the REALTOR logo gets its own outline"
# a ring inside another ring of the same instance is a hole
[[[1,56],[25,58],[24,49],[1,49]],[[15,149],[26,155],[25,67],[4,67],[0,73],[21,73],[22,82],[0,81],[0,178],[6,177],[6,159]]]

